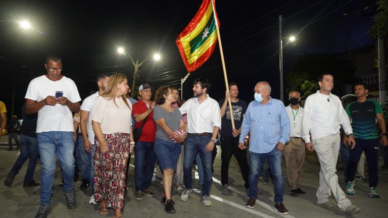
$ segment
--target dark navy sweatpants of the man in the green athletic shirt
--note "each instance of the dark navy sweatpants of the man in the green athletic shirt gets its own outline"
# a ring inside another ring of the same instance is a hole
[[[357,162],[362,151],[365,151],[368,163],[369,187],[376,187],[378,183],[378,139],[356,138],[356,146],[349,152],[348,180],[354,180]]]

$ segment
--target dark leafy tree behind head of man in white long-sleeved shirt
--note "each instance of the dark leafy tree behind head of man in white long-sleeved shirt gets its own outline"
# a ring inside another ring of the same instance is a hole
[[[342,87],[355,82],[355,67],[346,57],[330,53],[310,53],[299,57],[285,76],[289,88],[287,92],[297,90],[302,99],[319,90],[318,77],[329,73],[334,77],[332,93],[341,96]]]

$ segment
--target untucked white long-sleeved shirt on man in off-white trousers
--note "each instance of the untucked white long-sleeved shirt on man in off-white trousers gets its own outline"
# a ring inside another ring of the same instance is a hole
[[[340,124],[346,134],[353,133],[350,120],[345,112],[340,98],[329,93],[324,95],[319,90],[308,96],[302,118],[302,138],[310,142],[331,134],[340,133]]]

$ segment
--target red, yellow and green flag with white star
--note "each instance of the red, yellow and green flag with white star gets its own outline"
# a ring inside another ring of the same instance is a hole
[[[214,16],[211,1],[214,0],[202,2],[196,16],[176,39],[183,63],[189,73],[201,67],[210,58],[216,46],[217,30],[214,17],[217,17],[217,13]],[[218,17],[217,23],[219,26]]]

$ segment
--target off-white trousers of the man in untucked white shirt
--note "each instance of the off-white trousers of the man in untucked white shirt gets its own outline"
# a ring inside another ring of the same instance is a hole
[[[338,177],[335,174],[335,166],[341,145],[340,134],[332,134],[315,139],[312,143],[321,165],[321,170],[319,171],[319,188],[317,190],[318,203],[327,202],[331,192],[333,192],[338,207],[346,211],[352,203],[346,197],[340,185],[338,185]]]

